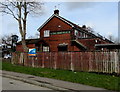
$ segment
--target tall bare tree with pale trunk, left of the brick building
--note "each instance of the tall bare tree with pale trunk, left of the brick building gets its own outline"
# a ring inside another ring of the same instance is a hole
[[[43,3],[41,2],[27,2],[26,0],[14,0],[14,2],[5,0],[5,2],[0,2],[0,12],[13,16],[13,18],[18,22],[24,52],[28,51],[25,43],[27,16],[28,14],[32,15],[42,13],[42,5]]]

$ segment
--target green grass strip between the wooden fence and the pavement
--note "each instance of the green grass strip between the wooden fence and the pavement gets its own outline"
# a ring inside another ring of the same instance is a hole
[[[88,72],[72,72],[68,70],[54,70],[47,68],[33,68],[18,65],[12,65],[9,62],[2,62],[2,70],[31,74],[40,77],[54,78],[74,83],[80,83],[95,87],[101,87],[109,90],[120,91],[118,83],[120,78],[111,75],[102,75]]]

